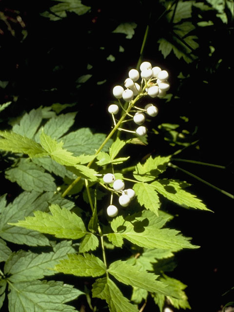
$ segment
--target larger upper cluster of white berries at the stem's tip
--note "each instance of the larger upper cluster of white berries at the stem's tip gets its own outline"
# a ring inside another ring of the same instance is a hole
[[[167,81],[169,75],[166,70],[161,70],[160,67],[153,67],[150,62],[143,62],[140,65],[140,73],[137,69],[131,69],[128,73],[129,78],[124,82],[126,89],[122,86],[115,86],[113,89],[114,96],[119,100],[123,98],[125,101],[130,102],[135,96],[141,94],[142,96],[149,95],[151,98],[162,98],[165,96],[166,91],[169,90],[170,84]],[[136,81],[141,77],[141,85]],[[120,102],[120,101],[119,101]],[[151,117],[155,117],[158,113],[156,106],[148,104],[144,109],[134,106],[135,115],[132,116],[134,122],[139,125],[136,130],[136,134],[139,137],[143,137],[147,133],[147,129],[142,124],[145,121],[144,113],[147,113]],[[112,115],[116,115],[119,111],[117,104],[111,104],[108,107],[108,112]],[[115,117],[113,116],[114,121]],[[124,130],[124,129],[120,129]]]

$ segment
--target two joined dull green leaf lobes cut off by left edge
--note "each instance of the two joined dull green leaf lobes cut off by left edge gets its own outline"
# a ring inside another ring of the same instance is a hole
[[[50,245],[49,240],[36,231],[18,228],[9,225],[8,222],[17,222],[20,218],[30,215],[37,206],[37,192],[23,192],[13,203],[4,207],[0,217],[0,236],[16,244],[27,244],[29,246],[46,246]],[[48,204],[46,204],[46,207]],[[43,206],[44,207],[44,206]]]

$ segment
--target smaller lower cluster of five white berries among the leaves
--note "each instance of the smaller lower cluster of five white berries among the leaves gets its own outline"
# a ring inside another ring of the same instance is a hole
[[[113,189],[116,192],[121,192],[121,195],[118,197],[118,202],[122,207],[127,207],[130,201],[135,197],[135,192],[133,189],[124,190],[124,182],[120,179],[115,178],[113,174],[106,174],[103,176],[103,181],[106,184],[113,183]],[[107,207],[107,215],[114,217],[118,214],[118,209],[114,205],[110,205]]]

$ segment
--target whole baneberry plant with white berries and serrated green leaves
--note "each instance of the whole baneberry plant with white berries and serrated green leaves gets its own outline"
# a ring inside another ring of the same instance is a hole
[[[169,89],[168,78],[167,71],[148,61],[141,63],[140,73],[131,69],[126,89],[113,89],[117,100],[108,107],[113,126],[106,137],[88,128],[67,133],[76,113],[56,115],[52,107],[33,109],[11,131],[0,132],[0,149],[13,162],[5,177],[23,190],[12,203],[6,195],[0,198],[0,261],[5,262],[0,305],[8,293],[10,312],[16,307],[78,311],[65,303],[86,294],[92,311],[143,311],[149,296],[160,311],[165,301],[190,308],[186,286],[165,274],[163,261],[198,246],[166,226],[173,216],[163,211],[160,199],[209,209],[185,190],[186,182],[160,177],[170,155],[124,168],[129,159],[124,147],[133,140],[142,143],[144,122],[158,114],[155,103]],[[142,98],[150,103],[141,107]],[[120,139],[124,132],[132,137]],[[47,251],[12,252],[5,241]],[[120,255],[121,250],[126,252]],[[78,288],[44,279],[56,273],[75,275]],[[123,294],[123,284],[130,295]]]

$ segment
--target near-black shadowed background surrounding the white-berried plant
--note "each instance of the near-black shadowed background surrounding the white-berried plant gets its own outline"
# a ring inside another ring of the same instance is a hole
[[[170,133],[155,135],[154,129],[161,123],[179,124],[178,131],[183,127],[189,131],[181,142],[199,141],[198,148],[188,147],[178,158],[219,164],[226,169],[173,163],[233,193],[233,23],[231,19],[223,23],[216,11],[202,12],[203,20],[212,20],[214,25],[196,26],[193,31],[199,43],[195,60],[187,63],[173,53],[164,59],[157,40],[170,32],[171,24],[164,17],[157,21],[164,12],[165,1],[161,2],[83,0],[91,7],[89,12],[81,16],[67,12],[66,18],[52,21],[40,13],[55,5],[55,1],[1,0],[0,103],[12,104],[1,112],[0,128],[10,128],[8,122],[25,111],[59,102],[76,104],[77,128],[108,133],[111,120],[106,108],[113,101],[112,88],[123,84],[128,70],[136,67],[149,23],[143,60],[169,72],[173,98],[157,101],[159,115],[148,125],[148,146],[137,146],[128,151],[129,155],[134,159],[137,153],[137,162],[148,154],[174,153],[183,146],[170,145],[164,139],[164,135],[170,139]],[[198,13],[193,9],[190,21],[194,25],[199,21]],[[132,39],[112,33],[121,22],[137,24]],[[120,45],[124,52],[119,52]],[[211,56],[210,46],[215,47]],[[109,55],[115,61],[107,60]],[[88,64],[93,66],[90,70]],[[180,72],[186,78],[177,78]],[[79,83],[78,78],[86,74],[92,77]],[[105,79],[97,85],[97,81]],[[188,117],[189,122],[185,124],[181,116]],[[193,237],[193,243],[201,246],[178,253],[178,265],[168,275],[188,285],[186,293],[192,311],[216,312],[234,301],[233,291],[222,296],[234,286],[233,199],[179,170],[170,168],[167,174],[193,184],[190,191],[214,211],[189,211],[165,204],[166,211],[178,215],[172,227]],[[1,194],[9,193],[8,187],[12,188],[12,184],[4,182]],[[149,305],[145,311],[152,311]]]

